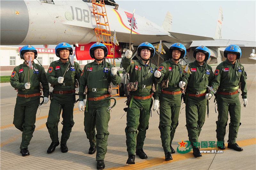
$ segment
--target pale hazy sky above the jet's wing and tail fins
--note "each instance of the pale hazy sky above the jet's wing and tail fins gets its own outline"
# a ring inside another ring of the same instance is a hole
[[[222,39],[256,41],[256,1],[120,1],[119,8],[134,12],[162,26],[172,14],[172,32],[214,37],[220,6]]]

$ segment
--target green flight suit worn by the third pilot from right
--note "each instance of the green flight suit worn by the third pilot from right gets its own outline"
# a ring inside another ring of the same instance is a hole
[[[168,69],[167,69],[168,68]],[[158,71],[162,73],[160,80],[169,79],[168,88],[165,91],[180,91],[179,82],[181,80],[183,71],[181,65],[175,64],[171,59],[160,64]],[[181,105],[180,94],[165,94],[161,93],[160,97],[160,122],[159,130],[161,134],[162,146],[164,153],[171,152],[170,145],[174,137],[175,130],[179,124],[179,112]]]

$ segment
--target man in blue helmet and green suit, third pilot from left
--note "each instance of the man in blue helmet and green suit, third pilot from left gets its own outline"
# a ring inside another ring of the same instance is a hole
[[[104,169],[108,145],[108,121],[110,120],[110,94],[112,82],[121,82],[116,67],[106,62],[107,47],[102,43],[92,44],[90,56],[95,59],[84,66],[79,84],[79,111],[84,111],[84,131],[90,142],[89,154],[96,153],[97,169]],[[87,101],[84,101],[87,94]],[[97,135],[95,135],[95,127]]]

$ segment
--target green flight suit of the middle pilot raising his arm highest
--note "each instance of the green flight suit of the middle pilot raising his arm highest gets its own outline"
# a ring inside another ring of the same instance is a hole
[[[141,59],[131,60],[130,58],[123,57],[122,66],[129,73],[130,82],[138,81],[138,89],[130,92],[132,100],[130,106],[127,108],[127,123],[125,128],[128,155],[135,155],[135,148],[142,149],[144,145],[153,99],[140,100],[134,99],[133,97],[149,96],[152,94],[153,83],[156,85],[159,80],[154,76],[157,67],[152,63],[151,68],[149,68],[150,65],[146,66]],[[153,97],[154,99],[159,99],[156,93],[153,94]]]

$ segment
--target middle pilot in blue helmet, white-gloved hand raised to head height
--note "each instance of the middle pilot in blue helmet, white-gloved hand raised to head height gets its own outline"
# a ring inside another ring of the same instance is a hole
[[[130,95],[127,97],[125,128],[128,151],[127,164],[135,164],[135,152],[141,159],[148,158],[143,151],[143,144],[153,104],[152,89],[154,90],[154,84],[159,81],[154,76],[157,67],[151,63],[151,58],[155,54],[154,46],[148,42],[141,43],[137,49],[137,54],[140,60],[131,60],[131,50],[127,50],[125,57],[122,58],[122,66],[130,75],[130,82],[127,85],[127,91],[130,91]],[[154,93],[153,97],[155,99],[154,109],[157,110],[159,107],[158,96]]]

